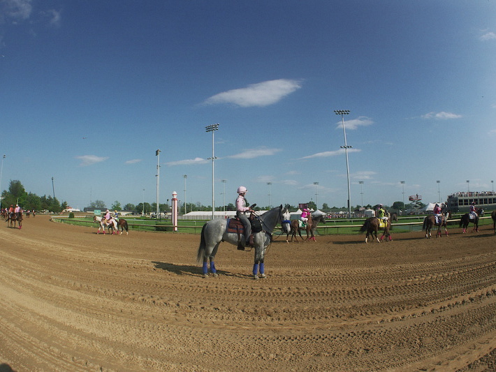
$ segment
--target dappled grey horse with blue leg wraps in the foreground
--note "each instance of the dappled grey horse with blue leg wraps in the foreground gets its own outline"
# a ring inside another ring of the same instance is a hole
[[[272,241],[272,231],[277,223],[283,220],[282,205],[266,211],[261,216],[257,217],[262,225],[262,230],[253,232],[253,240],[255,246],[255,258],[253,264],[254,279],[259,277],[265,278],[265,265],[264,256],[265,250]],[[227,241],[230,244],[238,246],[240,239],[245,239],[244,235],[238,235],[235,232],[228,232],[228,220],[225,218],[217,218],[210,220],[201,229],[200,246],[198,246],[198,253],[196,260],[203,261],[203,277],[208,276],[208,261],[210,260],[210,271],[214,276],[217,276],[217,269],[215,268],[214,258],[219,248],[221,241]],[[258,276],[258,272],[260,276]]]

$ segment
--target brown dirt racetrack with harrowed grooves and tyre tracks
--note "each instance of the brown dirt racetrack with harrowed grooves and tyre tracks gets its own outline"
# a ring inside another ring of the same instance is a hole
[[[496,236],[277,239],[0,225],[0,371],[495,371]]]

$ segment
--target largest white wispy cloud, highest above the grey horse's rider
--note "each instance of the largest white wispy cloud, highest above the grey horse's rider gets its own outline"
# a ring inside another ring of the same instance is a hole
[[[250,84],[246,88],[232,89],[216,94],[205,100],[205,105],[232,103],[240,107],[263,107],[273,105],[282,98],[301,88],[298,80],[278,79]]]

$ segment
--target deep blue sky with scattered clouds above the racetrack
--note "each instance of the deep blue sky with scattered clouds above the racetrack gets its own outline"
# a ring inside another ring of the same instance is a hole
[[[210,205],[219,123],[216,206],[344,207],[334,110],[353,206],[496,179],[495,1],[0,0],[0,56],[2,190]]]

